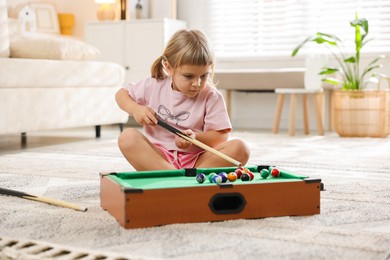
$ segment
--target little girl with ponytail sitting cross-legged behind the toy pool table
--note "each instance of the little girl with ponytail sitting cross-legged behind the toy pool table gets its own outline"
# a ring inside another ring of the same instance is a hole
[[[234,166],[157,125],[157,118],[245,165],[247,145],[228,140],[232,126],[212,83],[214,54],[198,30],[180,30],[152,65],[150,78],[116,94],[121,109],[144,127],[124,130],[119,148],[137,171]]]

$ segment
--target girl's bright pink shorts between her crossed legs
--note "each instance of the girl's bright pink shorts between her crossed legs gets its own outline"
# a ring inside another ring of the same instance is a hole
[[[199,155],[204,153],[204,151],[200,151],[198,153],[186,153],[176,150],[167,150],[158,144],[155,144],[155,146],[161,150],[167,162],[175,166],[176,169],[193,168]]]

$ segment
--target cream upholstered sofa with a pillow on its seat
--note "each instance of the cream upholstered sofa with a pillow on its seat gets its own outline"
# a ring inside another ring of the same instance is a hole
[[[0,134],[96,126],[98,137],[101,125],[123,127],[128,115],[115,102],[121,66],[88,60],[96,49],[74,39],[10,39],[10,21],[0,0]]]

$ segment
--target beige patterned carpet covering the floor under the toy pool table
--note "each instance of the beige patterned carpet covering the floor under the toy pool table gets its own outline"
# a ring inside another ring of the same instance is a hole
[[[109,259],[390,259],[390,138],[233,137],[251,145],[251,165],[320,177],[321,214],[125,230],[99,206],[99,172],[132,168],[115,139],[89,139],[0,155],[0,187],[88,207],[0,196],[0,238],[122,256]],[[0,243],[7,252],[10,245]],[[76,259],[69,255],[63,259]]]

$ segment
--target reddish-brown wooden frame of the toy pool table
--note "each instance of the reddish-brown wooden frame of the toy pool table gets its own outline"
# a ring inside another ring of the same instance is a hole
[[[134,189],[121,186],[115,176],[101,173],[101,207],[124,228],[319,214],[323,190],[321,180],[311,178]]]

